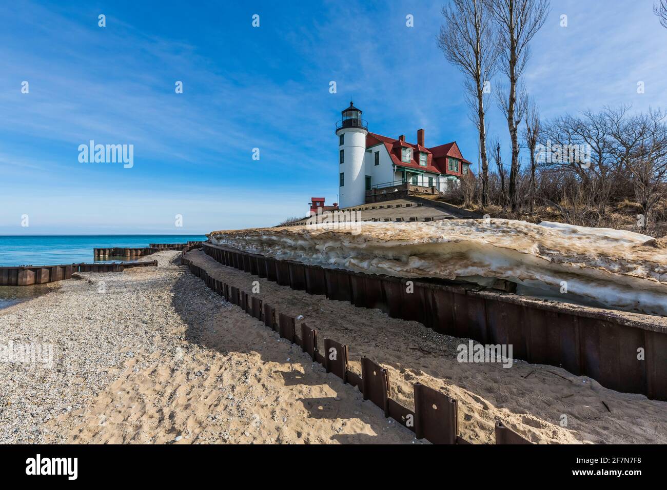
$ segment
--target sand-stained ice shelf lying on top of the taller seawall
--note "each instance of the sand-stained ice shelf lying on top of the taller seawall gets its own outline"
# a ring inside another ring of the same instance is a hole
[[[506,279],[518,293],[667,315],[667,249],[631,231],[465,219],[214,231],[209,238],[323,267],[482,285]]]

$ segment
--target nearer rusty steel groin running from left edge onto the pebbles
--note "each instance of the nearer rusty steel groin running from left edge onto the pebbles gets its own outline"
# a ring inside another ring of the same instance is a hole
[[[66,264],[0,267],[0,286],[31,286],[71,279],[75,272],[122,272],[132,267],[157,267],[157,261],[110,264]]]

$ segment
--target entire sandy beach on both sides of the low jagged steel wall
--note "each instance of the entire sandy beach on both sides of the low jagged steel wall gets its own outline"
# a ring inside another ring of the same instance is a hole
[[[161,252],[159,267],[81,274],[0,311],[0,343],[53,344],[51,369],[0,364],[0,443],[425,443],[295,345],[245,315]],[[188,258],[209,274],[350,345],[390,371],[413,407],[419,381],[459,401],[473,443],[494,421],[536,443],[666,443],[667,403],[606,389],[564,369],[515,361],[459,363],[466,339],[378,310],[307,295]],[[104,286],[101,288],[101,283]],[[103,290],[104,292],[100,292]],[[562,415],[567,426],[562,427]]]

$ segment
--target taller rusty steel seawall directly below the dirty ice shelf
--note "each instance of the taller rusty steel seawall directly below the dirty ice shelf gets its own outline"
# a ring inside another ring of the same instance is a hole
[[[481,291],[456,281],[400,279],[326,269],[203,243],[223,265],[329,299],[376,308],[438,333],[482,344],[511,344],[514,359],[562,367],[625,393],[667,401],[667,328],[600,310]],[[406,292],[412,281],[414,292]],[[638,349],[644,359],[638,359]]]

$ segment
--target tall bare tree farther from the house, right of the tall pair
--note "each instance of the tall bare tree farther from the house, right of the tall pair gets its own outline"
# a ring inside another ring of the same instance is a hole
[[[510,167],[510,201],[512,211],[520,211],[517,192],[519,173],[518,125],[523,113],[518,89],[521,76],[530,58],[529,44],[544,24],[549,13],[548,0],[490,0],[491,11],[498,25],[498,44],[501,49],[500,69],[508,77],[509,87],[501,109],[506,115],[512,140]],[[523,107],[525,109],[525,106]]]

